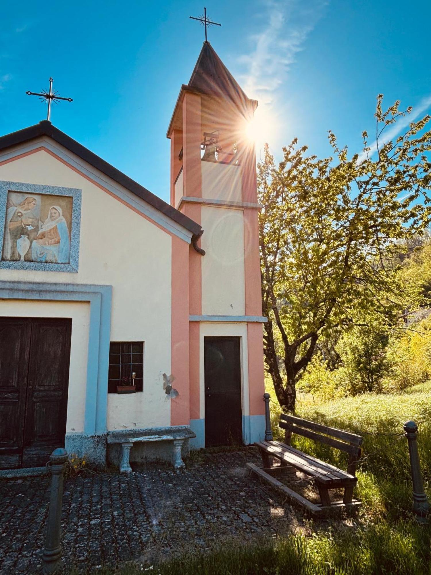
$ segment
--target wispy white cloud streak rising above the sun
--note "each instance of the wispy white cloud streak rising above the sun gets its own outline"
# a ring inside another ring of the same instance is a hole
[[[271,105],[275,91],[286,81],[288,68],[302,50],[307,36],[320,20],[327,0],[264,0],[259,17],[264,25],[251,37],[255,46],[240,57],[247,72],[243,76],[245,93]]]

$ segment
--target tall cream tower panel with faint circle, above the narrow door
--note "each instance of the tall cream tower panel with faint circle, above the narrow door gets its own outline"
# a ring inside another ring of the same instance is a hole
[[[243,211],[202,206],[202,228],[202,313],[244,315]]]

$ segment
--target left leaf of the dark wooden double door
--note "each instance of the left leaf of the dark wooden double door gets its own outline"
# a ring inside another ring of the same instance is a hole
[[[32,320],[0,318],[0,467],[21,466]]]

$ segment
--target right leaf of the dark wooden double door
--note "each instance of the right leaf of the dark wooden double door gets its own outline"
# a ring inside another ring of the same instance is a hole
[[[32,325],[22,466],[45,465],[64,446],[72,320],[35,318]]]

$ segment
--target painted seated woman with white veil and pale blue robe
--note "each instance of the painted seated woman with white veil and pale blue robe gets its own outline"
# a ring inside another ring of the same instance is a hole
[[[69,263],[70,239],[59,206],[51,206],[47,219],[32,243],[33,262]]]

